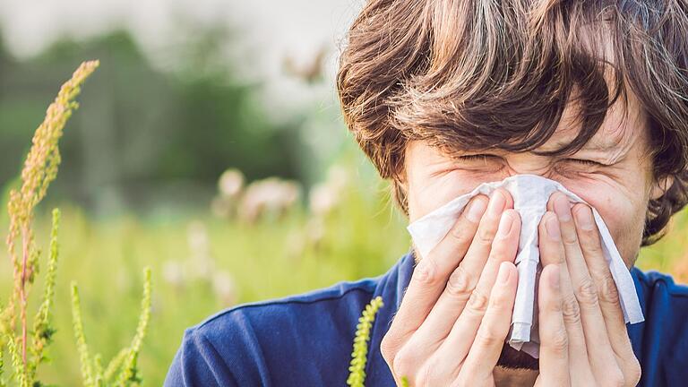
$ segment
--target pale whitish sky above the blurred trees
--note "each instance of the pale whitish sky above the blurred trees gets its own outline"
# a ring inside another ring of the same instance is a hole
[[[31,56],[65,34],[88,38],[121,26],[155,56],[178,35],[180,15],[198,23],[227,21],[243,32],[241,44],[251,53],[244,63],[246,76],[266,81],[265,92],[279,109],[304,99],[322,99],[324,90],[331,90],[340,40],[362,4],[363,0],[0,0],[0,28],[5,46],[19,57]],[[327,84],[304,92],[286,79],[281,60],[290,56],[305,64],[323,46],[331,47]]]

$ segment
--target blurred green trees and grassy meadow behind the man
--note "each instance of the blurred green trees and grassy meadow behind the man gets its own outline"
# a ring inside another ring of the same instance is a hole
[[[142,267],[150,265],[141,370],[144,385],[161,385],[186,327],[237,303],[380,275],[409,249],[387,184],[333,102],[325,64],[336,57],[334,47],[283,58],[295,90],[284,98],[296,102],[282,108],[264,98],[274,92],[268,81],[245,76],[242,67],[255,58],[236,55],[240,30],[183,18],[178,27],[183,39],[156,60],[121,28],[64,35],[22,57],[0,37],[4,193],[57,86],[83,60],[100,60],[65,127],[63,164],[36,221],[45,244],[50,209],[63,211],[56,342],[48,349],[52,365],[41,370],[49,383],[80,380],[71,280],[80,285],[91,348],[107,359],[131,340]],[[668,236],[643,249],[641,268],[688,280],[687,219],[685,211],[677,215]],[[5,250],[0,294],[11,287]]]

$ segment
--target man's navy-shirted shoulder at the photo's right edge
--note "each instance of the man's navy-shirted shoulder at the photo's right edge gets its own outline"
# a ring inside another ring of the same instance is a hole
[[[641,385],[682,384],[688,378],[688,286],[658,271],[633,268],[632,274],[645,314],[645,322],[628,327]]]

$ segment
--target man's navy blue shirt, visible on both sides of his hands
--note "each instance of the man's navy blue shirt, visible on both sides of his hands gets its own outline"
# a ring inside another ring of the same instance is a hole
[[[375,278],[237,305],[185,331],[165,386],[346,386],[356,325],[383,297],[369,343],[366,386],[394,386],[380,341],[409,286],[413,254]],[[688,287],[632,269],[645,322],[627,325],[643,386],[688,383]]]

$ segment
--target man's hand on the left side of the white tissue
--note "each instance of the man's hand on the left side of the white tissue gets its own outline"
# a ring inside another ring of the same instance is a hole
[[[511,195],[472,198],[417,263],[381,349],[395,381],[410,386],[494,385],[512,322],[520,217]]]

